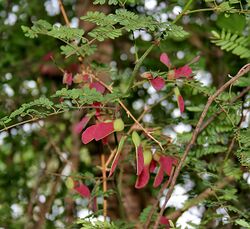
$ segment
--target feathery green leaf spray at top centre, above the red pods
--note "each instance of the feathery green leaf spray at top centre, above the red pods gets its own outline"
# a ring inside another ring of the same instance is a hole
[[[145,29],[156,32],[167,38],[185,38],[188,33],[177,25],[160,23],[151,16],[139,15],[126,9],[117,9],[115,14],[105,15],[102,12],[88,12],[82,20],[95,23],[98,27],[89,32],[89,35],[99,41],[122,36],[124,32]]]

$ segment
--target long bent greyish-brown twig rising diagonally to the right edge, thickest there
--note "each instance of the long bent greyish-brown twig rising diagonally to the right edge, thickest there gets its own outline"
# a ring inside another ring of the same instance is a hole
[[[243,76],[244,74],[248,73],[250,71],[250,63],[249,64],[246,64],[244,65],[240,70],[239,72],[236,74],[236,76],[234,76],[232,79],[230,79],[228,82],[226,82],[222,87],[220,87],[212,96],[210,96],[208,98],[208,101],[207,101],[207,104],[199,118],[199,121],[196,125],[196,128],[193,132],[193,135],[192,135],[192,138],[190,140],[190,142],[188,143],[188,145],[186,146],[186,149],[184,151],[184,154],[183,156],[181,157],[181,160],[175,170],[175,173],[174,173],[174,176],[173,176],[173,180],[170,184],[170,188],[168,190],[168,193],[166,195],[166,199],[165,199],[165,202],[167,203],[168,200],[170,199],[173,191],[174,191],[174,187],[175,187],[175,183],[177,181],[177,178],[180,174],[180,171],[181,171],[181,168],[186,160],[186,157],[188,156],[188,153],[189,151],[191,150],[192,146],[194,145],[199,133],[200,133],[200,128],[201,128],[201,125],[203,123],[203,120],[205,119],[206,117],[206,114],[208,112],[208,109],[209,107],[211,106],[211,104],[213,103],[213,101],[224,91],[226,90],[230,85],[232,85],[233,83],[235,83],[241,76]],[[154,225],[154,229],[157,229],[158,228],[158,225],[159,225],[159,221],[160,221],[160,218],[162,216],[162,211],[158,214],[158,217],[157,217],[157,220],[155,222],[155,225]]]

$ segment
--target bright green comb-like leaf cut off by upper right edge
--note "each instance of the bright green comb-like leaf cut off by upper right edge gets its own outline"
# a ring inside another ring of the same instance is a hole
[[[224,29],[221,33],[212,31],[212,35],[211,42],[220,46],[222,50],[232,52],[240,58],[250,57],[250,48],[248,48],[250,45],[249,37],[240,36]]]

